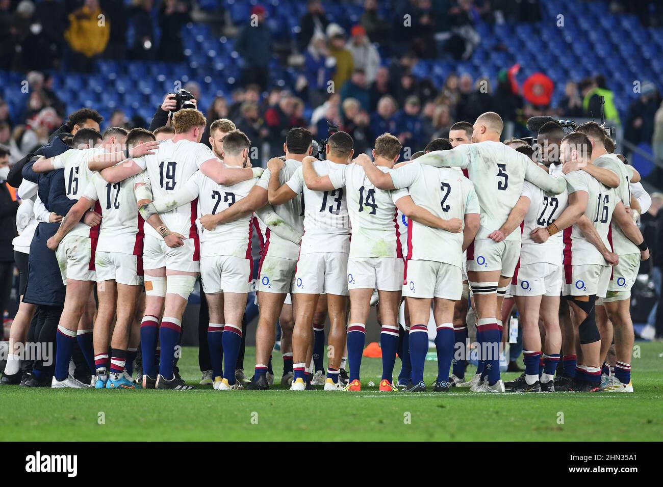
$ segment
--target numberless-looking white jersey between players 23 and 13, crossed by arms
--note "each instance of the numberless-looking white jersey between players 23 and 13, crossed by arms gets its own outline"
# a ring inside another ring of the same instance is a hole
[[[284,162],[283,168],[278,174],[279,184],[284,184],[288,181],[298,168],[302,167],[302,163],[298,160],[288,159]],[[269,178],[271,171],[265,169],[263,176],[258,180],[257,186],[267,189],[269,186]],[[288,225],[296,231],[304,232],[304,195],[300,193],[296,198],[286,201],[282,205],[274,206],[274,213],[283,219]],[[299,245],[286,239],[278,237],[275,233],[271,233],[265,222],[258,217],[259,229],[261,232],[262,250],[265,256],[285,258],[288,260],[297,260],[299,256]]]

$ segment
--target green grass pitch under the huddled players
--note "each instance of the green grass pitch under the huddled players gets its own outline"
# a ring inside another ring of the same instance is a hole
[[[280,386],[262,392],[3,386],[0,441],[660,441],[663,343],[636,345],[641,356],[633,358],[634,394],[379,393],[381,362],[374,358],[363,360],[359,393],[294,393]],[[247,374],[253,352],[247,349]],[[197,384],[197,351],[185,349],[183,355],[182,374]],[[278,378],[280,364],[277,353]],[[426,362],[426,382],[435,375],[436,362]],[[371,380],[376,387],[367,385]],[[99,424],[99,413],[105,415],[104,424]]]

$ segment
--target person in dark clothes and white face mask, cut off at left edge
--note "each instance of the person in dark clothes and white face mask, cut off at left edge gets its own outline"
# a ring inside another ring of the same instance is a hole
[[[16,211],[19,209],[16,189],[5,182],[9,173],[9,148],[0,146],[0,313],[7,309],[14,281],[14,246]]]

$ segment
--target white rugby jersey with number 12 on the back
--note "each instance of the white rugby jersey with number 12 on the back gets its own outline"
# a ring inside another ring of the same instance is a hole
[[[82,197],[98,201],[101,209],[99,252],[143,255],[143,217],[138,213],[134,185],[131,176],[119,183],[105,182],[98,172],[93,175]]]

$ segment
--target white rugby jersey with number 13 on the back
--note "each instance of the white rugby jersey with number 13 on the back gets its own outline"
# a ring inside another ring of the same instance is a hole
[[[313,163],[318,176],[340,171],[345,164],[330,160]],[[350,218],[347,213],[345,188],[313,191],[304,184],[302,168],[294,172],[286,184],[295,193],[304,193],[304,236],[302,254],[350,251]]]

